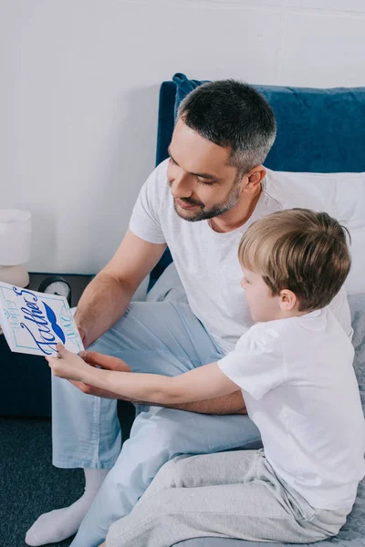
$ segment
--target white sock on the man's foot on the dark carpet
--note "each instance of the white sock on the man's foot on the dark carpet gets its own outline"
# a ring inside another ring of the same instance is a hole
[[[81,521],[89,510],[89,506],[109,471],[84,470],[85,491],[81,498],[69,507],[40,515],[26,532],[26,544],[38,547],[39,545],[47,545],[47,543],[62,542],[78,532]]]

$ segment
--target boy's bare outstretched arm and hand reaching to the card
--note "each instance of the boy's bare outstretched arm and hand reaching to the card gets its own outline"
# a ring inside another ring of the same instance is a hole
[[[217,363],[199,366],[177,377],[164,377],[94,368],[63,346],[57,348],[58,357],[47,357],[57,377],[107,389],[121,397],[169,405],[224,397],[238,388],[224,375]]]

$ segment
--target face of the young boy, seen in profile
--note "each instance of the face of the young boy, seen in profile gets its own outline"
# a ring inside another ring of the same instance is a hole
[[[281,318],[280,297],[273,296],[260,274],[243,268],[241,286],[255,323]]]

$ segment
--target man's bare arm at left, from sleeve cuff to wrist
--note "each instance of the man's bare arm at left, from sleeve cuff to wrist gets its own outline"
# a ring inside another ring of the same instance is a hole
[[[130,304],[130,299],[166,245],[148,243],[128,230],[118,251],[87,286],[78,303],[75,321],[89,346],[114,325]]]

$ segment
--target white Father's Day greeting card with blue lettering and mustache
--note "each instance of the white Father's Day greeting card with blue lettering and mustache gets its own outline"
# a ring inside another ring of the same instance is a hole
[[[0,283],[0,325],[12,351],[56,356],[57,343],[78,353],[84,346],[68,301]]]

